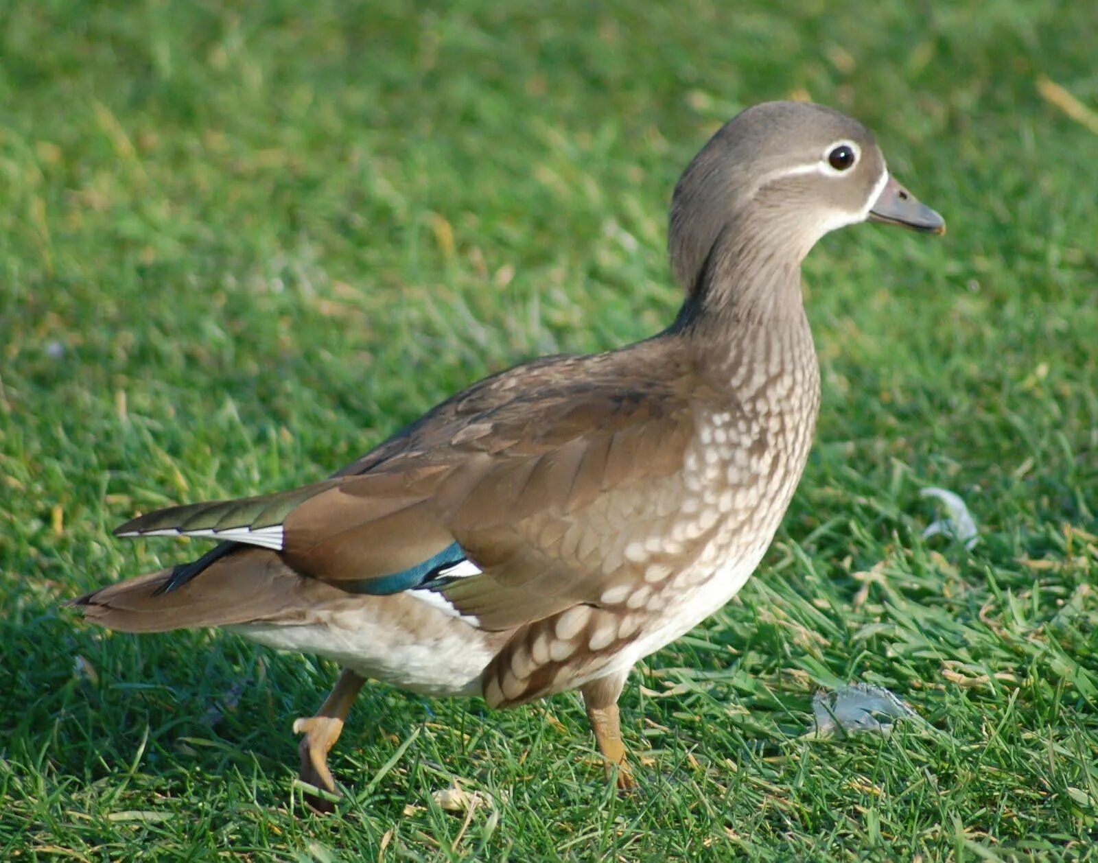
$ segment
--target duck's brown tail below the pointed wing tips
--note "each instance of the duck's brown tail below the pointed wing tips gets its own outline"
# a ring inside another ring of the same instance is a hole
[[[121,632],[167,632],[250,623],[305,623],[311,609],[347,594],[300,575],[272,551],[240,548],[175,591],[173,570],[110,584],[65,603],[94,624]]]

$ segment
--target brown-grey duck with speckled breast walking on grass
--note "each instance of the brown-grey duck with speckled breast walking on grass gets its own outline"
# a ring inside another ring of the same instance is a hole
[[[329,798],[368,680],[491,708],[578,691],[608,781],[631,788],[618,697],[770,546],[820,404],[802,261],[866,221],[945,228],[856,120],[748,108],[675,186],[683,301],[665,329],[485,378],[327,479],[139,515],[115,535],[216,545],[68,605],[122,632],[216,627],[338,663],[293,722],[301,780]]]

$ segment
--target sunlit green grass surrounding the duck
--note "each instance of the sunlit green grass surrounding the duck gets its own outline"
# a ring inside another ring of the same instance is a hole
[[[1037,82],[1098,108],[1098,8],[414,5],[4,7],[0,856],[1091,854],[1098,136]],[[631,679],[640,793],[574,696],[377,685],[314,817],[290,724],[334,668],[57,608],[202,548],[112,539],[134,512],[314,480],[490,371],[661,327],[679,171],[792,93],[871,125],[950,234],[810,257],[818,444],[758,575]],[[926,485],[972,551],[921,538]],[[938,731],[804,739],[850,680]],[[455,782],[491,799],[468,825]]]

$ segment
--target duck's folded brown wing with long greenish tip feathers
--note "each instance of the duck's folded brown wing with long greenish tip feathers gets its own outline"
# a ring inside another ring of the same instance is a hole
[[[629,565],[614,549],[643,502],[674,494],[693,434],[692,369],[650,345],[513,369],[323,483],[172,507],[119,533],[281,526],[288,565],[356,592],[457,542],[481,573],[440,591],[489,629],[596,602]]]

